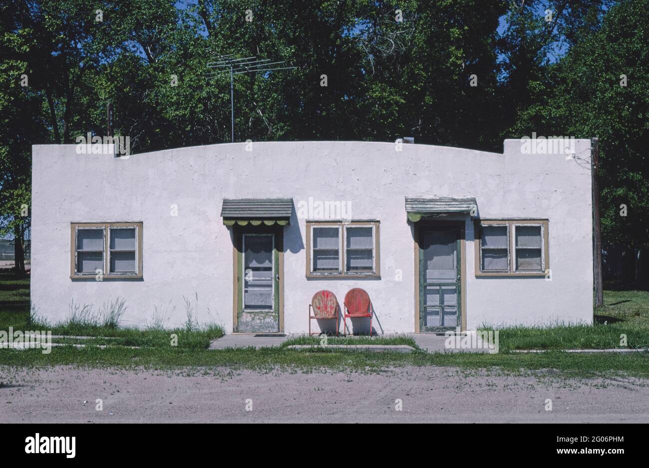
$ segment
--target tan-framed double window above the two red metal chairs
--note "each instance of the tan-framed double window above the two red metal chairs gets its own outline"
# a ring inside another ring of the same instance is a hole
[[[307,277],[380,277],[378,221],[306,222]]]

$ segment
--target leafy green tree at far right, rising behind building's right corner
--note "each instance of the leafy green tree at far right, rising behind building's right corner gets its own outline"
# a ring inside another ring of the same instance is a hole
[[[514,134],[598,137],[602,239],[649,247],[649,1],[623,0],[552,65]],[[569,201],[567,201],[569,203]],[[622,205],[626,205],[626,216]]]

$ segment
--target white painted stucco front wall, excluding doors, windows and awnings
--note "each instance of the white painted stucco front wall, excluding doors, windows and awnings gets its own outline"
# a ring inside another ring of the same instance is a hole
[[[474,196],[482,218],[548,218],[552,281],[476,278],[467,216],[467,320],[482,323],[587,322],[593,319],[590,141],[577,159],[365,142],[271,142],[195,146],[114,158],[77,154],[75,145],[36,145],[32,169],[32,306],[56,322],[72,300],[101,306],[127,301],[123,323],[144,325],[155,307],[168,325],[184,322],[182,296],[199,320],[232,331],[232,240],[220,218],[223,198],[351,202],[352,218],[381,223],[376,280],[307,280],[305,220],[284,233],[285,331],[308,329],[308,303],[327,288],[342,301],[352,287],[369,292],[375,328],[414,330],[414,261],[405,196]],[[178,216],[171,216],[171,205]],[[71,281],[71,222],[143,222],[143,281]],[[402,281],[395,281],[402,270]],[[209,313],[208,313],[209,309]],[[315,325],[316,322],[313,322]],[[317,325],[315,325],[317,326]]]

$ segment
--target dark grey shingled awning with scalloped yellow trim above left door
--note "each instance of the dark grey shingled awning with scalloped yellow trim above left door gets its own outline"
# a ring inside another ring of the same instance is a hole
[[[233,226],[280,226],[289,224],[293,214],[292,198],[239,198],[237,200],[223,200],[221,216],[223,224]]]

